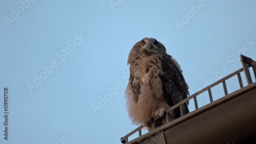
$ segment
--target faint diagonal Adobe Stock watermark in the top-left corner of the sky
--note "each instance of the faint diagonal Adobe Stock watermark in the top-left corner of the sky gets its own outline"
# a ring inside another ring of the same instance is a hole
[[[20,6],[18,6],[16,9],[11,9],[11,16],[4,17],[5,23],[7,25],[7,27],[10,27],[10,23],[11,22],[15,22],[15,20],[17,20],[19,18],[19,16],[21,14],[23,14],[25,12],[26,9],[28,9],[31,5],[31,3],[34,3],[36,0],[20,0]]]

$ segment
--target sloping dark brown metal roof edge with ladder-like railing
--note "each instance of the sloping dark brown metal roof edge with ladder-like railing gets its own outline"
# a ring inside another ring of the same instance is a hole
[[[122,143],[238,143],[256,136],[256,82],[252,83],[249,67],[256,79],[256,62],[241,57],[243,68],[234,71],[223,79],[190,95],[172,106],[166,112],[181,107],[193,99],[195,111],[185,114],[144,135],[143,126],[121,137]],[[244,71],[247,86],[244,87],[240,73]],[[240,89],[228,93],[226,80],[237,76]],[[225,96],[213,101],[211,88],[222,83]],[[197,96],[208,91],[210,104],[198,109]],[[182,108],[181,108],[182,109]],[[181,111],[181,113],[183,113]],[[168,116],[166,116],[167,118]],[[138,137],[128,141],[128,137],[138,132]],[[256,139],[256,138],[255,138]]]

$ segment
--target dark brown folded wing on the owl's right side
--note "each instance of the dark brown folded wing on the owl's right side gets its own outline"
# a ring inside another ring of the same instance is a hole
[[[180,65],[172,56],[163,55],[162,70],[163,74],[160,75],[160,78],[163,82],[163,90],[166,93],[165,97],[169,105],[173,106],[187,98],[189,95],[188,85],[182,75]],[[183,112],[184,114],[189,112],[188,103],[184,104]]]

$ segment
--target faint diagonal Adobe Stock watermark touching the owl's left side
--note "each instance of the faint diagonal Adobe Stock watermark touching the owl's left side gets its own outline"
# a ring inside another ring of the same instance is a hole
[[[121,78],[129,80],[129,77],[130,77],[129,74],[130,74],[130,71],[129,69],[127,69],[121,75]],[[91,105],[94,113],[97,114],[98,110],[102,110],[102,108],[105,107],[108,104],[108,102],[110,102],[113,99],[113,97],[117,95],[118,91],[123,88],[124,88],[124,85],[121,82],[117,82],[116,85],[112,88],[109,88],[109,87],[106,88],[108,92],[106,92],[103,97],[99,96],[98,104]]]

